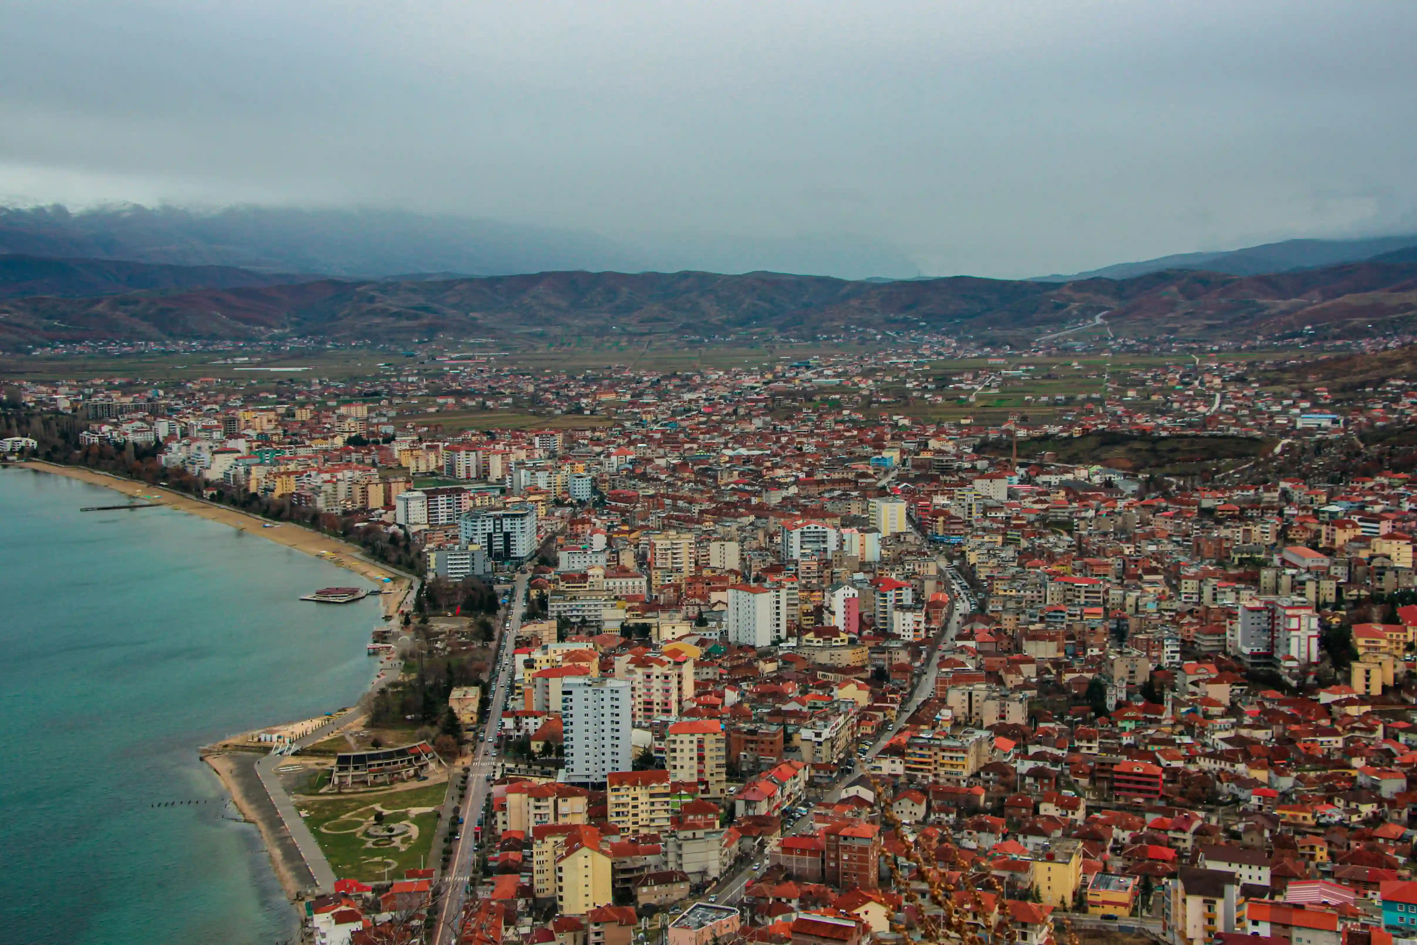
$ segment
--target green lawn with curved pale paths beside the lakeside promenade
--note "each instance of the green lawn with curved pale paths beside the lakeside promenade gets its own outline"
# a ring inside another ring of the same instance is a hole
[[[296,806],[339,877],[371,883],[402,878],[432,861],[438,810],[448,793],[448,783],[384,791],[330,799],[298,798]],[[383,813],[381,823],[376,815]],[[380,837],[380,829],[398,832]],[[376,836],[371,836],[376,834]]]

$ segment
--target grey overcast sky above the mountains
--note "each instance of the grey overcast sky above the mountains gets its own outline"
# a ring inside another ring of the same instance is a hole
[[[0,196],[886,241],[1417,231],[1417,3],[0,0]]]

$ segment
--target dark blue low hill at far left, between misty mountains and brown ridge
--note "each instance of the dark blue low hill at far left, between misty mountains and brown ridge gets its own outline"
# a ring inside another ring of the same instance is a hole
[[[307,278],[232,266],[164,266],[118,259],[50,259],[0,255],[0,299],[34,295],[95,296],[125,292],[239,289],[289,285]]]

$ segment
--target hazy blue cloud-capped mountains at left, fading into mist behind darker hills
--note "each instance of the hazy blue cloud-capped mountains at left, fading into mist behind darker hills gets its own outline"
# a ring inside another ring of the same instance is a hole
[[[0,252],[320,272],[350,279],[568,269],[777,269],[847,279],[920,275],[896,247],[854,237],[663,234],[621,241],[578,230],[395,210],[227,207],[197,213],[125,205],[69,213],[64,207],[11,207],[0,208]]]

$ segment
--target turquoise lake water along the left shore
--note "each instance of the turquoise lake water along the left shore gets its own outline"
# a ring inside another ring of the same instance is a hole
[[[116,499],[0,470],[0,942],[293,938],[197,747],[353,704],[377,598],[300,602],[361,579],[180,511],[79,511]]]

